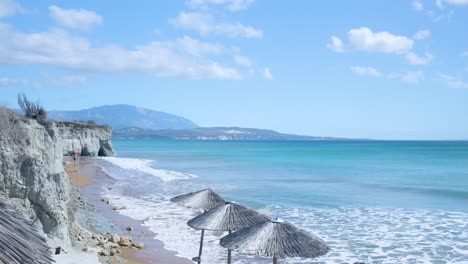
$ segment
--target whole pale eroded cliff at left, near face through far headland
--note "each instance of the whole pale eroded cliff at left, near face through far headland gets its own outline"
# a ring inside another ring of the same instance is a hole
[[[101,126],[21,119],[12,124],[14,133],[0,133],[0,200],[49,238],[68,242],[69,181],[63,155],[73,148],[88,156],[112,155],[111,131]]]

